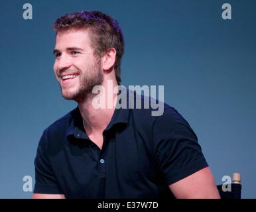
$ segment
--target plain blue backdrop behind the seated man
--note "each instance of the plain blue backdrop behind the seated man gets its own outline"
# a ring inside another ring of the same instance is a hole
[[[23,4],[32,4],[32,20]],[[232,19],[222,19],[230,3]],[[123,85],[164,85],[164,100],[196,132],[216,184],[242,174],[256,198],[256,1],[5,1],[0,7],[0,197],[30,198],[42,131],[76,107],[52,70],[55,19],[80,10],[111,15],[125,35]]]

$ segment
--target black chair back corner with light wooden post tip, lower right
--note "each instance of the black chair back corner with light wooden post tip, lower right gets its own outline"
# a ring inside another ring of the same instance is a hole
[[[217,185],[222,199],[241,199],[241,174],[233,173],[232,181],[230,191],[224,191],[222,185]]]

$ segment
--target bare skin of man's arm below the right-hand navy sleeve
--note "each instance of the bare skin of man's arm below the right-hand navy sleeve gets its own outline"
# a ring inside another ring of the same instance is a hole
[[[209,167],[170,184],[169,187],[176,198],[220,199],[220,194]]]

